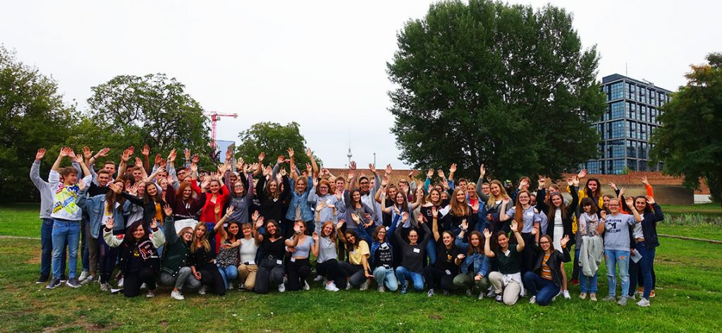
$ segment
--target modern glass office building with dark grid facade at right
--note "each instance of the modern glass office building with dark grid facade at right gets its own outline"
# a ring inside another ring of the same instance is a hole
[[[596,128],[601,134],[599,159],[585,164],[589,173],[615,174],[631,171],[658,171],[661,164],[650,163],[650,137],[659,127],[659,107],[669,101],[669,90],[651,82],[619,74],[601,79],[606,94],[606,111]]]

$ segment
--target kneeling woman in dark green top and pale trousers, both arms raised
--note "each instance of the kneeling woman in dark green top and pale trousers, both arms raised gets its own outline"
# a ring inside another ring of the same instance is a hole
[[[491,238],[492,233],[488,229],[484,229],[484,254],[489,258],[494,258],[499,267],[498,272],[489,274],[489,282],[494,287],[496,293],[496,301],[504,302],[508,306],[513,306],[523,293],[523,282],[521,281],[520,259],[521,251],[524,250],[524,238],[519,233],[519,225],[513,220],[510,225],[511,233],[516,238],[516,246],[510,246],[509,237],[504,231],[500,231],[495,235],[495,249],[492,251]]]

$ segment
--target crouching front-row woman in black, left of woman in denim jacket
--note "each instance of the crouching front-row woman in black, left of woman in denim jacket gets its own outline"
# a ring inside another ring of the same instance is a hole
[[[462,199],[464,190],[456,189],[454,192],[461,193]],[[464,204],[466,200],[464,199]],[[466,254],[462,254],[458,251],[453,233],[449,230],[443,231],[439,234],[439,212],[436,207],[432,207],[432,223],[431,230],[434,235],[434,241],[436,243],[436,262],[433,265],[429,265],[424,269],[424,275],[426,277],[426,283],[429,285],[429,291],[427,295],[429,297],[434,295],[435,287],[441,287],[444,295],[448,295],[451,290],[454,289],[453,278],[458,273],[458,267],[466,257]],[[463,220],[461,224],[466,223]]]

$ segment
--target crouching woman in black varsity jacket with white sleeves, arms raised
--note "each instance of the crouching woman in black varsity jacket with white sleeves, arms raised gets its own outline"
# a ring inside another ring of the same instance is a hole
[[[143,220],[133,222],[125,235],[113,235],[113,217],[105,221],[103,239],[108,246],[120,248],[123,269],[123,295],[135,297],[140,294],[140,286],[148,286],[147,297],[155,296],[155,274],[160,260],[157,255],[158,246],[165,243],[165,236],[158,228],[157,220],[150,223],[150,230],[143,225]]]

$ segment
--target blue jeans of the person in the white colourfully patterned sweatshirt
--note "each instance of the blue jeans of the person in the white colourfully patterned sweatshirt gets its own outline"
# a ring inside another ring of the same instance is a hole
[[[68,244],[68,278],[76,277],[78,269],[78,242],[80,241],[80,221],[53,220],[53,277],[60,278],[61,259],[65,244]]]

